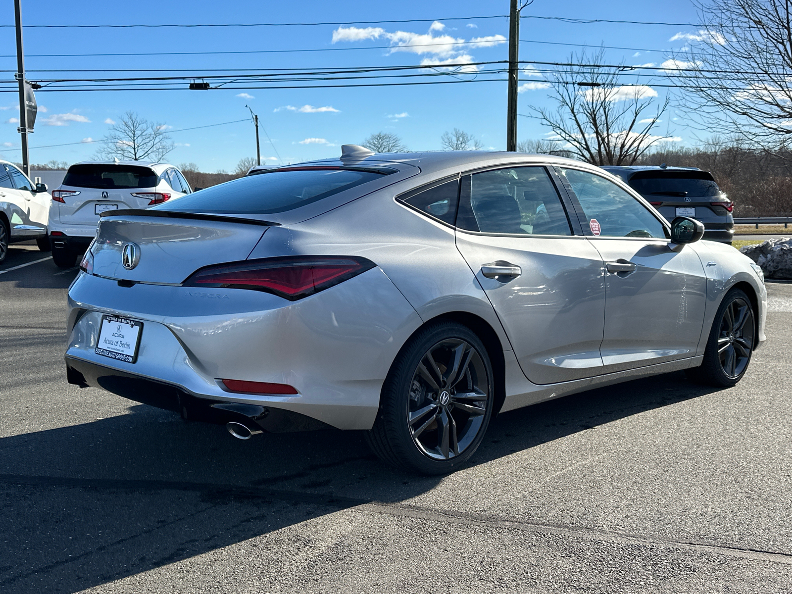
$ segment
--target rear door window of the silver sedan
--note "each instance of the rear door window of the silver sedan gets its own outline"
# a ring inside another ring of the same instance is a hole
[[[456,225],[484,233],[572,234],[550,176],[536,166],[466,176]]]

